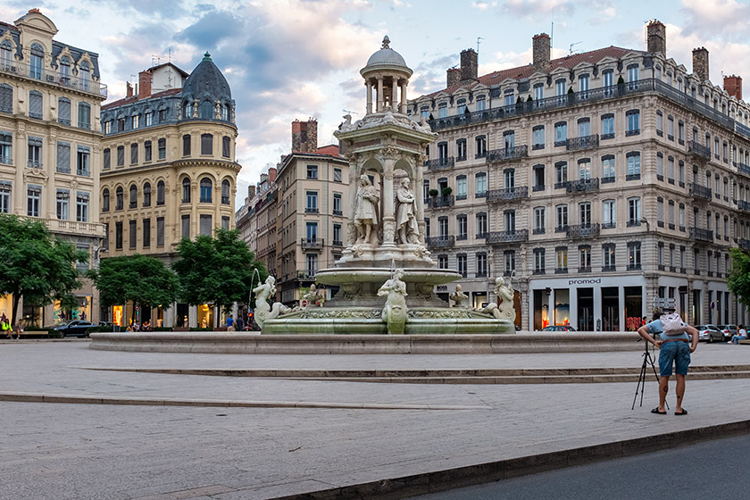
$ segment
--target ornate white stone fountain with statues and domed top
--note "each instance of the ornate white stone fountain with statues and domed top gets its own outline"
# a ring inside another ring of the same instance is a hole
[[[269,294],[258,294],[263,304],[256,311],[264,312],[258,321],[263,334],[514,331],[512,317],[500,313],[496,304],[477,311],[461,302],[450,307],[435,295],[436,286],[462,277],[457,271],[437,269],[429,257],[424,204],[422,196],[415,195],[423,184],[424,151],[437,134],[424,121],[406,115],[412,70],[389,44],[385,37],[382,48],[360,71],[367,87],[366,114],[354,123],[346,115],[334,134],[349,160],[349,237],[336,266],[319,271],[315,280],[339,291],[321,307],[291,312],[279,303],[270,307],[262,298]],[[261,287],[258,291],[270,291],[273,284]]]

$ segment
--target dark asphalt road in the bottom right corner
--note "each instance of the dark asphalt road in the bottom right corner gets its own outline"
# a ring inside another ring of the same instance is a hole
[[[412,500],[747,498],[750,436],[462,487]]]

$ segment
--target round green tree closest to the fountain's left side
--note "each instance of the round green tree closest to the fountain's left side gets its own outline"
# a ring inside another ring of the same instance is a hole
[[[184,238],[177,253],[179,260],[172,269],[179,276],[182,299],[191,305],[212,303],[229,312],[232,304],[247,300],[251,281],[256,287],[268,276],[237,230],[216,229],[213,237],[199,236],[195,241]],[[260,279],[253,280],[254,270]]]

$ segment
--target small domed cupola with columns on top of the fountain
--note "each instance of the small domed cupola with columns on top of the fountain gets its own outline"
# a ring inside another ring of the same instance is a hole
[[[360,70],[367,87],[367,114],[372,112],[400,112],[406,114],[406,86],[413,71],[404,57],[390,47],[390,39],[383,38],[383,46],[372,54],[367,65]],[[399,101],[399,89],[401,100]],[[375,109],[372,109],[373,90]]]

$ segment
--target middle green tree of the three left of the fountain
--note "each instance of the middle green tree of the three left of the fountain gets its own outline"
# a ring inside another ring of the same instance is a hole
[[[94,279],[103,305],[132,302],[139,307],[154,307],[172,304],[179,297],[177,274],[149,255],[110,257],[88,275]],[[135,312],[133,307],[133,320]]]

